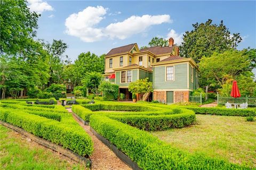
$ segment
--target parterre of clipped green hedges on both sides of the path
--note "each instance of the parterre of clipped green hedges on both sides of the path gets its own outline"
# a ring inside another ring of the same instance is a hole
[[[91,128],[113,143],[142,169],[251,169],[255,167],[253,163],[249,167],[203,153],[188,152],[159,140],[152,134],[151,131],[194,126],[195,112],[199,111],[193,108],[111,101],[96,101],[95,104],[86,104],[86,102],[87,100],[79,101],[80,105],[73,105],[73,112],[89,122]],[[255,116],[254,109],[230,111],[218,109],[215,114],[234,115],[235,113],[238,116]],[[205,109],[199,113],[209,114],[210,112]],[[90,136],[63,106],[27,105],[21,100],[3,100],[0,119],[81,156],[90,156],[93,152]]]

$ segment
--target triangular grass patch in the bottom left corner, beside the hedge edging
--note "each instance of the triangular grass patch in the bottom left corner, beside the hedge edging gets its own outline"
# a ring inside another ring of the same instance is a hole
[[[63,159],[34,142],[22,139],[22,135],[0,125],[1,169],[85,169],[82,165]],[[66,158],[67,159],[67,158]]]

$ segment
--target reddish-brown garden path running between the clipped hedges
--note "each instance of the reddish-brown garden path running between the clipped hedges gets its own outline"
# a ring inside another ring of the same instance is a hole
[[[67,108],[69,113],[72,113],[71,108]],[[111,151],[104,143],[95,137],[90,131],[89,125],[84,125],[75,116],[73,116],[77,123],[92,137],[94,151],[90,156],[92,160],[92,169],[131,169],[128,165],[122,162],[113,151]]]

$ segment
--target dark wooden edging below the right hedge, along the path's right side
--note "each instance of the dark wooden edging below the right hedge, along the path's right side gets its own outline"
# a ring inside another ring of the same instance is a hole
[[[125,155],[122,151],[120,151],[116,146],[114,146],[109,140],[102,137],[99,133],[97,133],[92,127],[90,127],[90,131],[97,137],[101,142],[103,142],[109,149],[111,149],[116,156],[121,159],[125,164],[130,166],[134,170],[141,170],[137,163],[133,162],[127,155]]]

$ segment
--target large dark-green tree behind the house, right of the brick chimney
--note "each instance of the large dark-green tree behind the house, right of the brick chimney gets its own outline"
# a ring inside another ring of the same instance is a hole
[[[242,41],[240,33],[231,35],[223,24],[212,24],[209,19],[205,23],[193,24],[194,29],[186,31],[183,35],[183,43],[180,46],[182,57],[192,57],[197,63],[203,57],[210,57],[214,52],[222,53],[226,50],[236,49]]]

